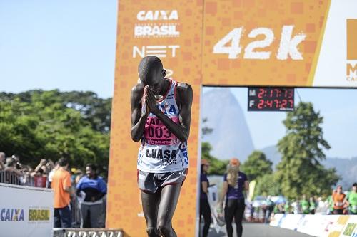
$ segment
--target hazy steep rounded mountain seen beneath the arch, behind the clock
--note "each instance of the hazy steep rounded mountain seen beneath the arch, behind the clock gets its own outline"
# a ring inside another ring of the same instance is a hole
[[[213,147],[211,154],[218,159],[237,157],[244,162],[254,150],[243,110],[228,88],[214,88],[203,94],[203,127],[213,132],[203,137]]]

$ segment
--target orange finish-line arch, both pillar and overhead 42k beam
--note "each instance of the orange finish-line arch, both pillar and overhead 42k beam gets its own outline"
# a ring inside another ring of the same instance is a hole
[[[106,227],[145,236],[130,91],[141,58],[193,87],[190,169],[173,219],[195,236],[202,85],[357,88],[356,1],[119,0]]]

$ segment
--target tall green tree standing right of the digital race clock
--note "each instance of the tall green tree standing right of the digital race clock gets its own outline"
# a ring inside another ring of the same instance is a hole
[[[310,102],[300,102],[294,112],[287,114],[283,124],[286,136],[278,142],[282,154],[277,167],[281,191],[289,199],[331,193],[331,186],[339,177],[335,169],[325,169],[323,149],[330,145],[323,139],[323,117],[313,110]]]

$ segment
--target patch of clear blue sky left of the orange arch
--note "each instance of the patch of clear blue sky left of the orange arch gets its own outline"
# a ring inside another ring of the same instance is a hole
[[[111,97],[116,14],[116,0],[0,0],[0,91]]]

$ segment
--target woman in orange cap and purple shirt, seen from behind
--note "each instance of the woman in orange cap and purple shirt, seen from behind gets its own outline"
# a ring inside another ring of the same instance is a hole
[[[233,236],[233,217],[236,221],[237,236],[241,237],[243,233],[243,214],[246,205],[244,204],[243,189],[248,192],[249,183],[246,174],[239,171],[240,162],[236,158],[232,158],[227,166],[227,173],[223,178],[223,189],[219,206],[223,206],[223,199],[226,196],[226,206],[224,208],[224,219],[226,220],[226,228],[228,237]]]

